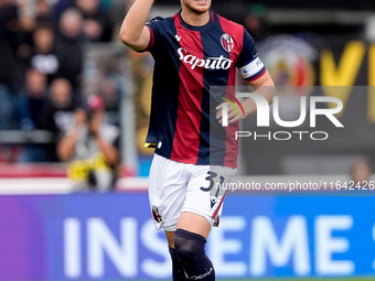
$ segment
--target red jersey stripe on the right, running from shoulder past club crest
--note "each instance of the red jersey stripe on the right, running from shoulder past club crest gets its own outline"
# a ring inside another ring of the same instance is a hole
[[[240,54],[244,45],[244,28],[242,25],[235,24],[222,17],[218,17],[222,29],[225,33],[229,34],[233,39],[234,48],[229,52],[231,60],[237,62],[237,55]],[[231,67],[228,77],[228,89],[225,97],[233,100],[235,97],[235,86],[236,85],[236,67]],[[238,142],[235,140],[236,131],[239,130],[239,122],[228,125],[226,127],[226,153],[224,158],[224,165],[229,167],[237,167],[238,158]]]

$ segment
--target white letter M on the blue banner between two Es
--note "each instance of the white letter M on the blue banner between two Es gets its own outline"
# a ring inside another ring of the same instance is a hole
[[[250,242],[251,274],[259,277],[266,273],[267,257],[275,267],[287,267],[292,258],[294,273],[309,274],[311,268],[308,242],[307,221],[302,216],[292,216],[288,219],[280,240],[268,217],[254,218]]]

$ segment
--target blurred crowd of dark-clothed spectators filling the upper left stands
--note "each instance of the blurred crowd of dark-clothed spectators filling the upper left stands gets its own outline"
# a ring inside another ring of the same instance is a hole
[[[117,40],[122,6],[116,0],[0,0],[0,130],[47,130],[56,139],[72,127],[85,99],[84,47]],[[110,91],[110,86],[103,88]],[[24,144],[17,153],[9,152],[12,145],[0,145],[0,161],[60,161],[55,143]]]

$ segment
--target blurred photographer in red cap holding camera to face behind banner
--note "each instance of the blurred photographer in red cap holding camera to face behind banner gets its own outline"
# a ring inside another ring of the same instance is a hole
[[[57,144],[57,154],[68,162],[68,176],[76,191],[110,191],[119,165],[117,127],[106,123],[104,102],[90,96],[87,109],[77,109],[75,126]]]

